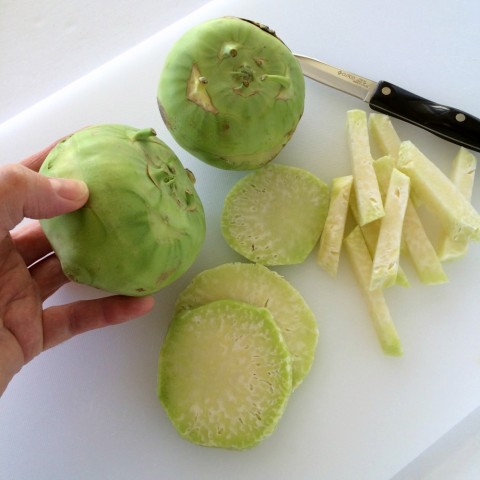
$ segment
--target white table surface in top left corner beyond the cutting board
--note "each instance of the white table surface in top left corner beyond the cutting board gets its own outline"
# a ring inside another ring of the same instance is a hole
[[[2,0],[0,123],[206,3]]]

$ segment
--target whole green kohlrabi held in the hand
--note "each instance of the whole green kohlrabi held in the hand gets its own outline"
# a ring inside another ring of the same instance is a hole
[[[205,238],[187,171],[152,129],[98,125],[59,143],[40,173],[86,182],[80,210],[42,220],[71,280],[142,296],[182,275]]]

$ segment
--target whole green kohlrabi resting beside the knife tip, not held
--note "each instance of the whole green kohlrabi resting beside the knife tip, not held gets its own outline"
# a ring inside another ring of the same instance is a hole
[[[292,52],[267,27],[235,17],[197,25],[175,43],[157,96],[179,145],[232,170],[272,160],[293,135],[304,98]]]

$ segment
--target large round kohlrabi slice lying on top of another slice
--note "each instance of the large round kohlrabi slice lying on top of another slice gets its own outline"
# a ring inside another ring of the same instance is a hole
[[[173,318],[158,396],[185,439],[253,447],[275,429],[291,389],[291,356],[266,308],[218,300]]]

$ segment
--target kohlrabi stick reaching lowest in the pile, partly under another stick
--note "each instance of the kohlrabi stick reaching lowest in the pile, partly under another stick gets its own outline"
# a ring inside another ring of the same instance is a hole
[[[353,272],[366,300],[370,318],[383,351],[402,355],[402,345],[382,289],[370,290],[372,259],[360,227],[356,226],[344,240]]]

